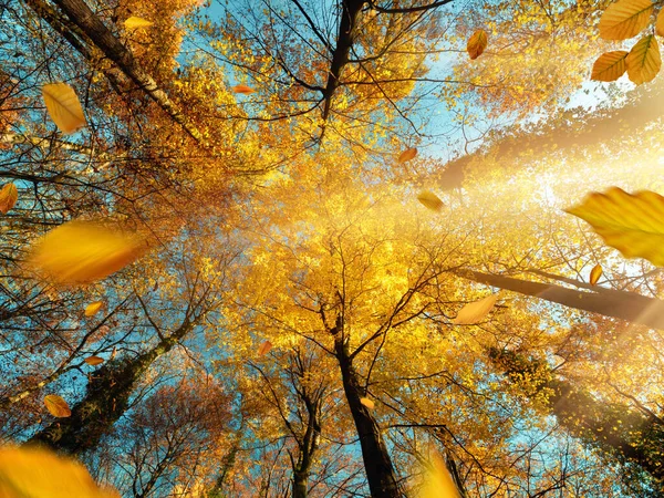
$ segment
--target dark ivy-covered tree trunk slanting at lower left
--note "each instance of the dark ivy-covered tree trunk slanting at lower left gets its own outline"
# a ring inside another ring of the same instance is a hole
[[[152,350],[135,359],[108,362],[95,371],[85,397],[72,408],[72,415],[53,422],[32,436],[28,444],[42,444],[72,455],[95,447],[126,412],[141,375],[157,357],[170,351],[194,325],[194,322],[185,320]]]

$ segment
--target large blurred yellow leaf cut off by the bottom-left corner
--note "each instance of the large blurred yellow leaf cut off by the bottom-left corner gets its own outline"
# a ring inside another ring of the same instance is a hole
[[[100,488],[80,463],[39,447],[0,448],[2,498],[120,498]]]

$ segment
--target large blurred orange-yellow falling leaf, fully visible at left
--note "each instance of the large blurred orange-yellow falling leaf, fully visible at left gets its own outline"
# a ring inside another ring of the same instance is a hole
[[[48,232],[29,264],[54,283],[94,282],[138,259],[147,249],[135,236],[94,221],[70,221]]]

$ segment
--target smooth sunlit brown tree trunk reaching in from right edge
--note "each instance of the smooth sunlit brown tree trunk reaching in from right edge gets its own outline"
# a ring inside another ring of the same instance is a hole
[[[664,329],[664,301],[660,299],[613,289],[608,292],[582,292],[553,283],[530,282],[474,270],[456,270],[455,273],[475,282],[532,295],[575,310],[600,313],[653,329]]]

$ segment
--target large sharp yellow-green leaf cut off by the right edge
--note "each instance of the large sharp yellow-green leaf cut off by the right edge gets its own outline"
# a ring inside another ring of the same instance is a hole
[[[611,187],[592,193],[583,204],[566,209],[588,221],[606,245],[627,258],[664,266],[664,197],[642,190],[634,195]]]

